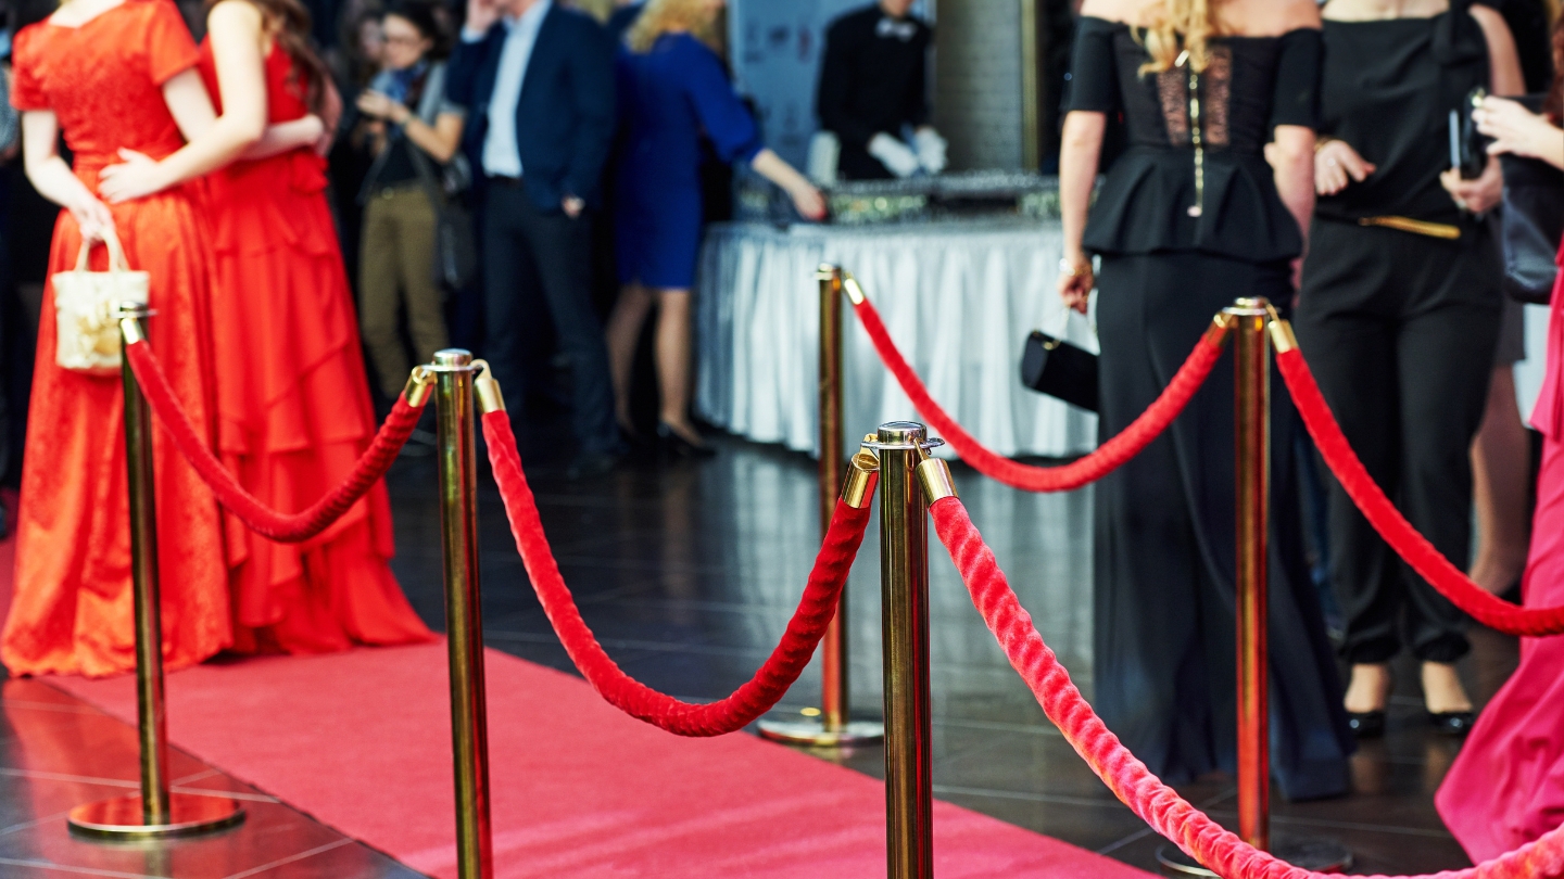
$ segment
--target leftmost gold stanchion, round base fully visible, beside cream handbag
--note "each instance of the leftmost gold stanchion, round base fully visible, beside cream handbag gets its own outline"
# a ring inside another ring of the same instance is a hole
[[[145,338],[138,302],[119,305],[124,344]],[[141,793],[89,802],[70,810],[77,834],[109,840],[188,837],[231,827],[244,807],[227,796],[169,791],[169,735],[163,699],[163,613],[158,596],[158,500],[152,466],[152,411],[141,385],[120,361],[125,388],[125,468],[130,494],[130,574],[136,630],[136,732],[141,746]]]

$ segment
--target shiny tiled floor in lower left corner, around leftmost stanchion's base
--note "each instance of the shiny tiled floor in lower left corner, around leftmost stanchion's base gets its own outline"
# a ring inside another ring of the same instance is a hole
[[[138,787],[135,730],[38,680],[0,693],[0,876],[6,879],[418,879],[389,857],[174,751],[177,793],[244,801],[246,821],[170,843],[74,837],[75,805]]]

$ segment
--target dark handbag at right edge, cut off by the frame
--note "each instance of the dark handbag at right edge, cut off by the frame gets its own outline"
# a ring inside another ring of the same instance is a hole
[[[1541,95],[1520,99],[1526,109]],[[1505,169],[1505,213],[1500,244],[1505,252],[1505,292],[1520,302],[1547,305],[1558,282],[1559,241],[1564,239],[1564,170],[1512,155],[1498,156]]]

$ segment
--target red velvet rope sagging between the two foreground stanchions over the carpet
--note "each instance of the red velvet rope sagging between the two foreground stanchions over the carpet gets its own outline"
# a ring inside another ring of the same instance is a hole
[[[826,530],[824,546],[815,558],[815,569],[809,576],[809,587],[804,588],[798,612],[793,613],[787,633],[760,671],[726,699],[696,705],[646,687],[608,658],[582,619],[580,608],[576,607],[576,599],[560,576],[554,551],[549,549],[549,538],[543,533],[543,521],[538,518],[527,474],[521,469],[521,454],[510,430],[510,418],[504,411],[485,414],[483,438],[488,441],[490,466],[494,469],[494,482],[499,483],[499,494],[510,516],[510,530],[516,536],[516,549],[527,566],[532,588],[565,644],[565,652],[608,704],[676,735],[726,735],[769,712],[798,680],[809,665],[809,657],[815,654],[815,644],[837,613],[841,588],[848,582],[848,571],[870,522],[868,504],[862,510],[854,510],[837,502],[837,511],[830,519],[830,529]]]

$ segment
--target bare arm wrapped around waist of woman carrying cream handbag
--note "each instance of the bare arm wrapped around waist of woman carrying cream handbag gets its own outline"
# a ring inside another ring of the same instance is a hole
[[[163,161],[120,152],[127,164],[103,169],[99,189],[109,202],[128,202],[210,174],[266,133],[266,75],[261,58],[261,11],[246,0],[224,0],[206,19],[217,61],[222,116],[213,119],[211,99],[196,70],[163,86],[163,97],[186,138],[183,149]]]

